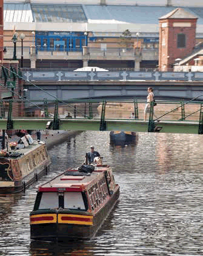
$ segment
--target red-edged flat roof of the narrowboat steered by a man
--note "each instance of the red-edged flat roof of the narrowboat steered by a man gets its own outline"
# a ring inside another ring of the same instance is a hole
[[[79,172],[78,169],[68,169],[53,180],[39,186],[39,192],[55,192],[55,191],[84,191],[92,184],[96,183],[104,177],[104,171],[109,166],[96,166],[92,173]]]

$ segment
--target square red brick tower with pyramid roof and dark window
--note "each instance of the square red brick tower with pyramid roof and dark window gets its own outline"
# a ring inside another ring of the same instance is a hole
[[[159,69],[168,70],[176,59],[181,60],[193,52],[197,19],[182,8],[159,18]]]

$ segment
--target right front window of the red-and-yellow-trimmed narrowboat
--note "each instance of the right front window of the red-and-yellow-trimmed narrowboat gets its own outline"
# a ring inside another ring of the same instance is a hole
[[[65,192],[64,208],[73,210],[85,210],[84,200],[81,192]]]

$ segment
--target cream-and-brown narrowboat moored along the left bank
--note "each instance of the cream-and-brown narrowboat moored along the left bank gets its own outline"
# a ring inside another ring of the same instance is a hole
[[[23,136],[18,143],[0,151],[0,193],[25,190],[44,175],[51,164],[44,141]]]

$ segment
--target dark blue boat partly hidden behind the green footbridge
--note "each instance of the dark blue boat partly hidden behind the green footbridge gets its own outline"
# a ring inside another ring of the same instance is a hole
[[[111,131],[110,143],[115,146],[125,146],[130,143],[135,143],[136,133],[128,131]]]

